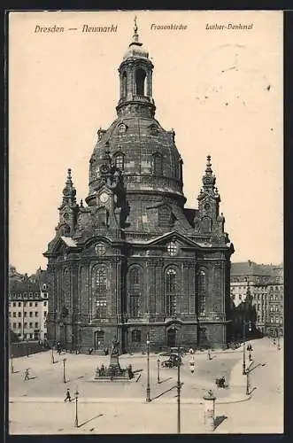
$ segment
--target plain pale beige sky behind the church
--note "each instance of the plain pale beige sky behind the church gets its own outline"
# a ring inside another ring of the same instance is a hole
[[[220,192],[232,261],[283,255],[282,12],[11,12],[9,21],[9,262],[46,268],[72,168],[89,190],[98,128],[116,118],[118,67],[134,17],[154,64],[156,118],[175,131],[186,207],[197,207],[206,156]],[[154,29],[175,24],[183,30]],[[252,29],[206,29],[218,25]],[[82,33],[83,25],[117,32]],[[63,33],[35,27],[64,27]],[[68,30],[76,27],[75,30]]]

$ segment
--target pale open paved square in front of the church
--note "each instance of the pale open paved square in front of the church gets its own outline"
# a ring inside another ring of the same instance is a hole
[[[211,361],[206,353],[198,352],[193,375],[189,370],[189,354],[183,358],[181,433],[206,432],[203,395],[208,389],[217,398],[215,433],[282,432],[282,350],[268,338],[252,343],[250,395],[246,395],[246,377],[242,374],[242,347],[214,352]],[[134,370],[142,369],[135,373],[134,380],[104,383],[94,382],[92,378],[97,365],[108,364],[106,356],[61,354],[55,355],[55,364],[51,363],[50,352],[14,359],[15,373],[10,377],[10,433],[176,433],[177,369],[160,367],[158,384],[158,358],[164,361],[167,357],[150,354],[150,403],[145,401],[146,355],[120,357],[121,367],[131,362]],[[27,368],[31,378],[24,381]],[[223,375],[226,389],[215,385],[215,378]],[[78,427],[74,426],[74,401],[64,402],[67,388],[72,397],[76,389],[79,392]]]

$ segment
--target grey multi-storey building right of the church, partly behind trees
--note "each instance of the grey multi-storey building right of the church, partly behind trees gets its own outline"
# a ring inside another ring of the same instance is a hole
[[[251,260],[232,263],[231,299],[235,313],[251,309],[255,327],[262,334],[283,335],[283,268]]]

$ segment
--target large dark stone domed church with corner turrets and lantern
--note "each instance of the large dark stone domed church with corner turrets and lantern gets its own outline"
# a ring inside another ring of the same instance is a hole
[[[117,119],[97,132],[85,203],[76,202],[68,169],[44,253],[48,339],[67,348],[101,350],[114,337],[120,352],[141,351],[147,338],[150,349],[227,346],[234,247],[211,157],[198,209],[185,208],[174,132],[155,118],[153,68],[135,21],[119,67]]]

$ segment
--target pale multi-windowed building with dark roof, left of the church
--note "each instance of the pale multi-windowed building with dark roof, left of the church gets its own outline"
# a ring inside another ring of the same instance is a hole
[[[9,269],[9,329],[19,340],[47,338],[48,287],[46,271],[38,269],[33,276]]]

